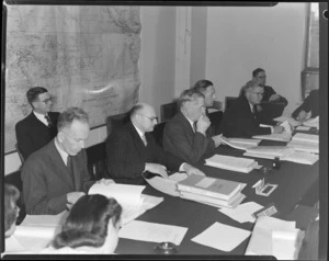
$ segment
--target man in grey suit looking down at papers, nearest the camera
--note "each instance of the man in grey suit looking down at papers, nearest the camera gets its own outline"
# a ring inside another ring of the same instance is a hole
[[[88,115],[79,107],[69,107],[59,115],[57,127],[57,136],[23,164],[26,214],[56,215],[70,208],[93,184],[84,149]]]

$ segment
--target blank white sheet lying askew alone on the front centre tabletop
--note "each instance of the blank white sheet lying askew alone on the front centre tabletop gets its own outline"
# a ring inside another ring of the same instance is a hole
[[[229,252],[250,236],[250,231],[214,223],[209,228],[191,240],[211,248]]]

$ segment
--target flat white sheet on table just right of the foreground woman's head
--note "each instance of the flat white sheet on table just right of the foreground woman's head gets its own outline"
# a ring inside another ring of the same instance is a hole
[[[134,220],[118,231],[118,237],[150,242],[168,241],[179,246],[186,231],[186,227]]]

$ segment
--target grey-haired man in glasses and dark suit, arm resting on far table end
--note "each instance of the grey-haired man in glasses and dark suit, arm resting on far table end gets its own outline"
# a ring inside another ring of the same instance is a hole
[[[271,118],[260,117],[256,106],[261,103],[264,88],[254,81],[246,84],[243,95],[227,109],[223,115],[220,132],[226,137],[251,138],[253,135],[279,134],[283,132],[282,126],[262,127],[261,123],[272,125]]]

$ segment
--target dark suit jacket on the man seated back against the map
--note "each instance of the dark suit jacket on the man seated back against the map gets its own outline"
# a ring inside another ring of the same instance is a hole
[[[53,122],[50,128],[37,120],[33,112],[15,125],[18,147],[25,160],[32,152],[44,147],[57,135],[59,113],[49,112],[48,115]]]

